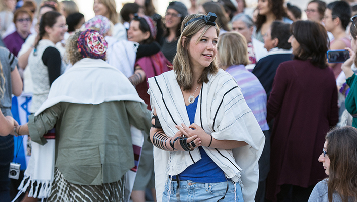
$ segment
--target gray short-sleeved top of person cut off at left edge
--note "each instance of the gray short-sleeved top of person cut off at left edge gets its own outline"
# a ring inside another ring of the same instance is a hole
[[[6,48],[0,47],[0,61],[3,66],[3,72],[5,77],[5,92],[4,98],[0,101],[0,108],[4,116],[12,116],[11,114],[11,94],[12,94],[12,84],[11,84],[11,72],[15,70],[17,65],[17,58]],[[3,79],[0,77],[0,84],[4,83]]]

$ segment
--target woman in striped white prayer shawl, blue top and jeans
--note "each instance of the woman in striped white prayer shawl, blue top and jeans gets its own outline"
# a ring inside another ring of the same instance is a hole
[[[173,70],[149,78],[158,201],[253,201],[264,135],[216,65],[215,14],[181,24]]]

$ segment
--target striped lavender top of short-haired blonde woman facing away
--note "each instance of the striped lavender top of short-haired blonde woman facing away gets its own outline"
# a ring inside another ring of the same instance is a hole
[[[244,65],[230,66],[226,71],[232,75],[241,88],[246,104],[251,108],[260,128],[269,130],[267,124],[267,94],[258,78],[245,69]]]

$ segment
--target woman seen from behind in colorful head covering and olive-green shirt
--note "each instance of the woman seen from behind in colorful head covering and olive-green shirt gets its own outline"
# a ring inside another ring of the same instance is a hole
[[[53,82],[48,99],[28,124],[15,129],[44,145],[44,134],[56,125],[54,179],[47,201],[125,200],[125,174],[134,167],[130,124],[148,133],[150,111],[129,80],[104,61],[106,48],[104,37],[94,30],[69,38],[73,67]],[[47,172],[51,167],[37,169]]]

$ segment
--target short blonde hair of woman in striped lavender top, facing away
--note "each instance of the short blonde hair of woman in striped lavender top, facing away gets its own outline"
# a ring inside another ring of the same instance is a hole
[[[223,33],[218,39],[217,49],[221,67],[250,63],[246,39],[238,32]]]

